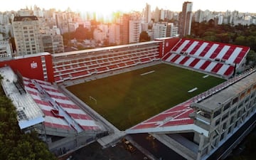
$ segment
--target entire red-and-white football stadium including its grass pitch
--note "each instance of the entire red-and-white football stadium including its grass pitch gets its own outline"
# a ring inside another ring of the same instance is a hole
[[[161,38],[38,53],[2,61],[1,85],[19,127],[36,130],[56,155],[148,133],[184,159],[223,159],[255,127],[249,50]]]

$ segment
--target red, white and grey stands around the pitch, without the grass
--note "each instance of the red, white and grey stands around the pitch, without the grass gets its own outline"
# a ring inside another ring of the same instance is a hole
[[[225,43],[161,38],[53,55],[38,53],[1,61],[1,84],[16,106],[21,129],[36,129],[50,151],[60,155],[111,134],[60,85],[154,62],[225,78],[223,84],[125,131],[149,133],[186,159],[220,159],[255,126],[256,73],[244,71],[249,50]],[[193,140],[179,133],[193,133]]]

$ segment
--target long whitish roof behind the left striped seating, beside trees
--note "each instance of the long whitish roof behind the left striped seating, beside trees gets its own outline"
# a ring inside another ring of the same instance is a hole
[[[6,66],[4,68],[0,68],[0,74],[4,78],[1,80],[4,92],[16,107],[18,114],[18,126],[21,129],[24,129],[44,122],[44,114],[36,102],[34,102],[33,98],[26,94],[26,92],[22,92],[20,90],[21,88],[19,88],[21,86],[16,84],[17,77],[14,71],[11,70],[10,67]]]

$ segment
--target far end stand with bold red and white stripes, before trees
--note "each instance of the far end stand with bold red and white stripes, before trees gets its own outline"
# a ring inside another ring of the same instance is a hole
[[[183,38],[164,56],[163,60],[230,77],[235,68],[239,68],[244,62],[249,50],[250,48],[246,46]]]

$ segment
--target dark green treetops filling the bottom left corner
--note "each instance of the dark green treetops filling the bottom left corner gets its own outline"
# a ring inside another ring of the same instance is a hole
[[[0,87],[0,160],[57,160],[36,132],[21,132],[16,117],[16,108]]]

